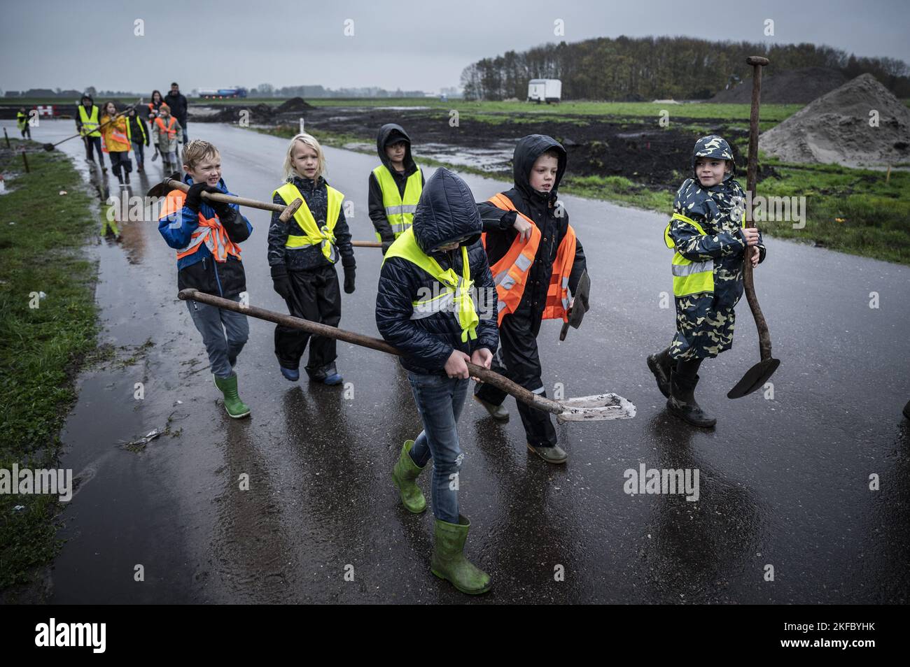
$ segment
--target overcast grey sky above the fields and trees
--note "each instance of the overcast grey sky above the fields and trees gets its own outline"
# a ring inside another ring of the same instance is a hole
[[[145,36],[134,35],[136,19]],[[557,19],[564,36],[553,34]],[[810,42],[910,62],[908,19],[907,0],[4,0],[0,89],[148,92],[177,80],[187,93],[262,83],[438,92],[459,85],[461,70],[484,56],[619,35]]]

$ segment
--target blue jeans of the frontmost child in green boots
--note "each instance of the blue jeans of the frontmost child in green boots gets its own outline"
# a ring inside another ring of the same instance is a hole
[[[440,521],[459,523],[458,487],[464,454],[458,444],[458,418],[470,381],[410,372],[408,380],[423,422],[410,458],[421,468],[433,459],[433,514]]]

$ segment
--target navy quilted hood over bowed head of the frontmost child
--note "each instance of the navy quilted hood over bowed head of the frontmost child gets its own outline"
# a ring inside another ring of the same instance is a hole
[[[425,254],[437,253],[440,245],[455,241],[476,243],[483,224],[468,184],[448,169],[437,169],[423,186],[412,228]]]

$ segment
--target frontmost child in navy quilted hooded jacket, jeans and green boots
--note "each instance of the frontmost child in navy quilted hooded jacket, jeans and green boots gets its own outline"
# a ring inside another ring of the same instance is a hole
[[[430,570],[469,594],[490,590],[490,576],[464,556],[470,521],[460,513],[458,498],[466,362],[490,368],[498,343],[496,293],[481,229],[467,184],[447,169],[437,170],[413,224],[389,246],[376,296],[379,333],[403,353],[400,363],[423,423],[420,435],[401,447],[392,480],[405,508],[421,513],[427,503],[416,480],[433,460]]]

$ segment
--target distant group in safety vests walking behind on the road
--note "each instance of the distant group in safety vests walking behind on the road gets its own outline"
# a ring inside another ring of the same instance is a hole
[[[136,171],[139,173],[145,171],[145,148],[150,145],[155,147],[153,160],[158,154],[161,155],[165,174],[177,170],[180,164],[177,144],[184,142],[183,128],[177,118],[170,114],[170,108],[161,101],[161,94],[155,91],[152,96],[153,101],[148,105],[150,132],[146,119],[137,113],[136,106],[127,106],[117,112],[114,102],[106,102],[99,108],[92,96],[86,93],[76,108],[76,129],[86,144],[86,160],[94,163],[94,154],[97,153],[98,163],[106,174],[104,154],[107,153],[111,169],[122,185],[129,184],[129,174],[133,171],[130,151],[136,154]]]

